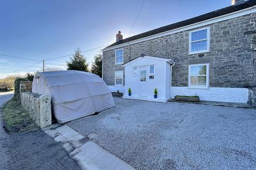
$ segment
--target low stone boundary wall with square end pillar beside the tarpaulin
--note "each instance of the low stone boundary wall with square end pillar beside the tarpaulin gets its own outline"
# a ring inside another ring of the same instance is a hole
[[[51,97],[33,92],[21,92],[21,106],[25,108],[35,123],[44,128],[52,124]]]

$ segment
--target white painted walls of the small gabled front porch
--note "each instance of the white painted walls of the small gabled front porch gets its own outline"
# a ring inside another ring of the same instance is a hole
[[[131,64],[125,65],[125,87],[124,87],[124,95],[128,96],[129,87],[132,90],[132,97],[137,98],[140,97],[140,68],[147,68],[147,98],[154,98],[154,90],[157,88],[158,94],[157,98],[161,101],[165,101],[170,97],[170,64],[166,61],[158,60],[153,58],[141,58],[140,60],[134,61]],[[150,65],[154,65],[155,73],[150,74],[149,67]],[[138,68],[137,75],[133,75],[133,67]],[[149,79],[150,75],[154,75],[154,79]],[[147,100],[145,98],[145,100]],[[158,101],[159,101],[158,100]]]

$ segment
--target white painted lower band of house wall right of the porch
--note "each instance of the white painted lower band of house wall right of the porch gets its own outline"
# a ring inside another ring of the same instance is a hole
[[[246,88],[207,88],[193,89],[188,87],[172,87],[172,98],[176,95],[200,97],[200,100],[247,103],[248,89]]]

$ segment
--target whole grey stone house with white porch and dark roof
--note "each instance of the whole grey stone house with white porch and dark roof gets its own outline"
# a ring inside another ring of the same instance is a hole
[[[256,86],[255,0],[233,0],[220,10],[116,38],[102,50],[102,77],[124,97],[130,87],[131,98],[154,100],[157,88],[161,101],[198,95],[246,103],[248,88]]]

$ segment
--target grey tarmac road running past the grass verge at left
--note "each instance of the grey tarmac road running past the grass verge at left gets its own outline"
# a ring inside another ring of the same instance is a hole
[[[0,113],[12,92],[0,93]],[[0,169],[80,169],[65,149],[43,131],[8,134],[0,114]]]

